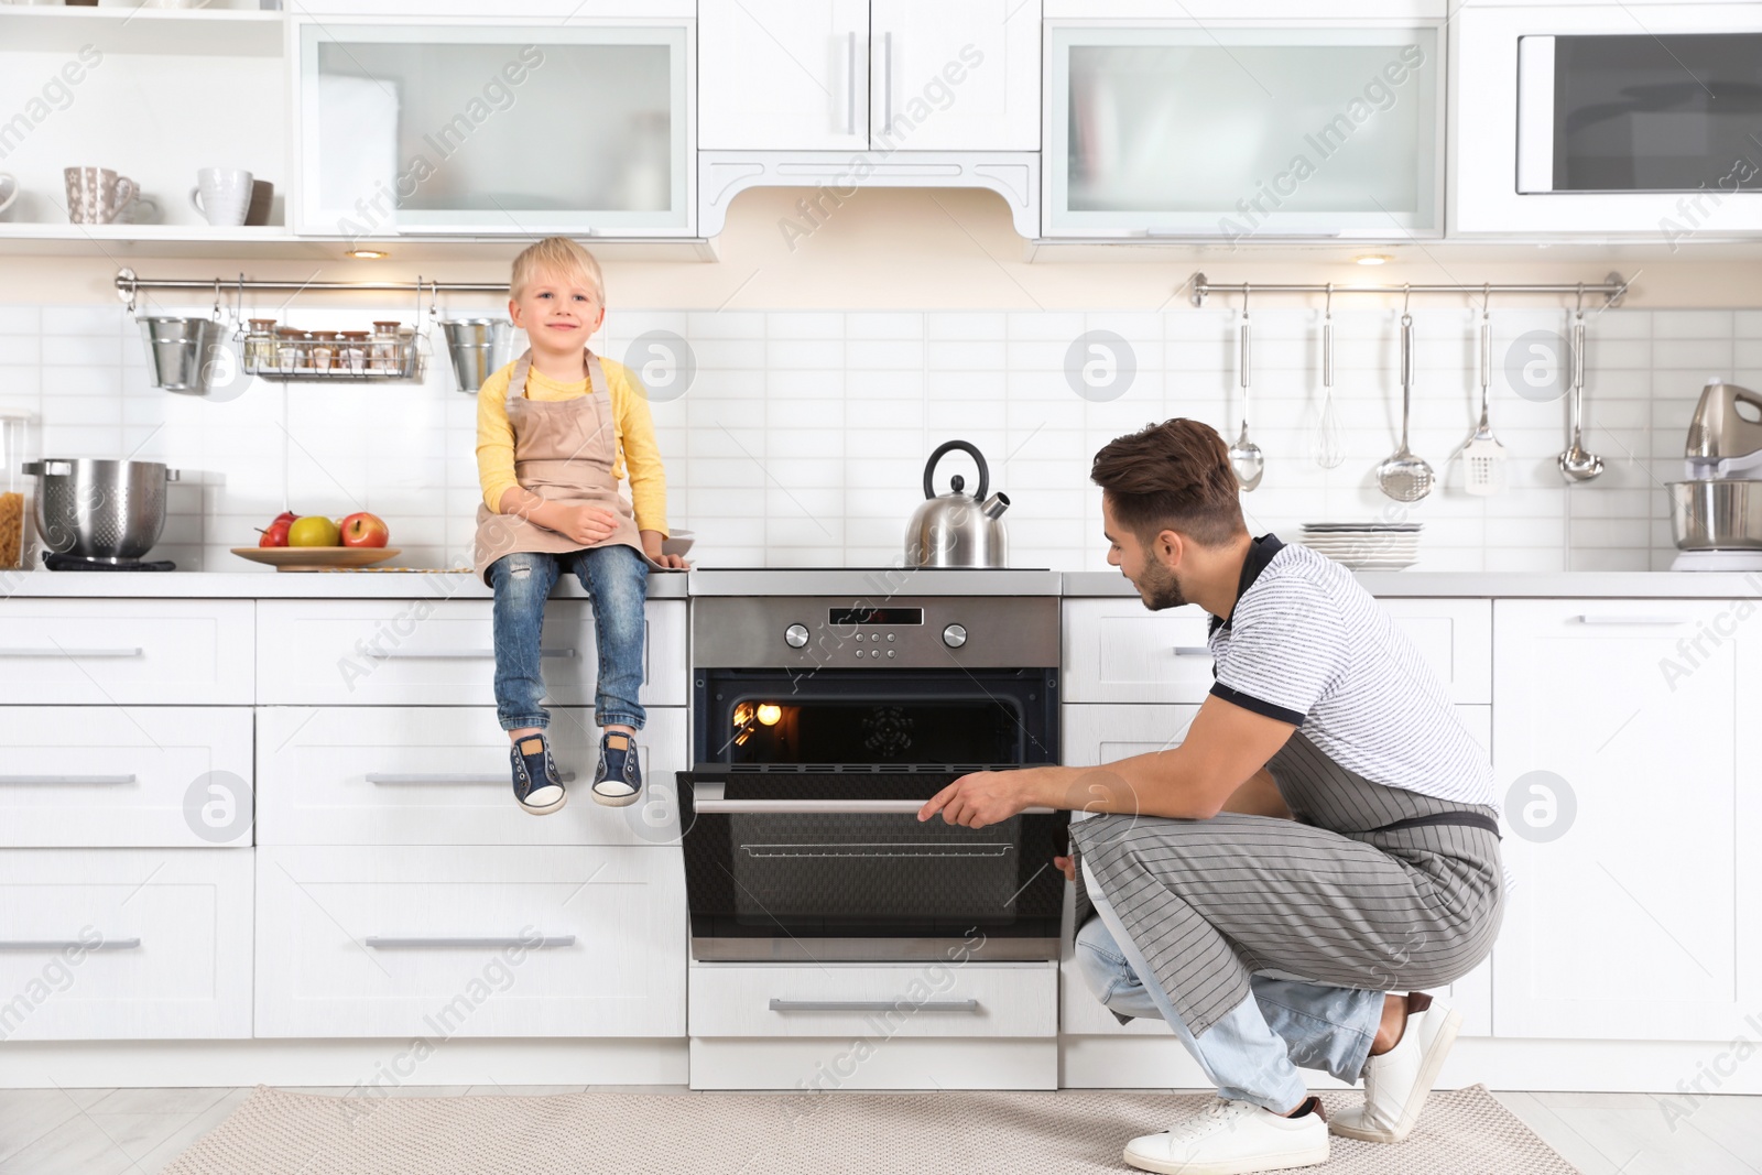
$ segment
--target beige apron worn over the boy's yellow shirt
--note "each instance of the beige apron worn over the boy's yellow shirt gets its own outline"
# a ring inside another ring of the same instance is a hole
[[[592,389],[574,400],[527,400],[532,352],[515,361],[507,379],[507,423],[515,430],[515,477],[532,493],[567,506],[597,506],[618,520],[611,537],[590,546],[629,546],[643,553],[631,504],[618,495],[611,467],[618,458],[618,430],[611,416],[611,393],[599,356],[587,352]],[[478,504],[478,541],[472,562],[488,583],[490,564],[515,551],[566,555],[589,550],[574,539],[520,518],[495,514]],[[647,555],[643,557],[647,562]]]

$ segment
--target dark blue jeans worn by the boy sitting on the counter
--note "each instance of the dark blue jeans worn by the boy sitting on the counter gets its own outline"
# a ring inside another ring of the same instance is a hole
[[[515,551],[490,564],[495,588],[495,717],[504,731],[550,726],[543,705],[539,632],[557,578],[573,571],[594,604],[599,684],[594,722],[641,729],[648,713],[636,699],[643,684],[643,601],[648,564],[627,546],[548,555]]]

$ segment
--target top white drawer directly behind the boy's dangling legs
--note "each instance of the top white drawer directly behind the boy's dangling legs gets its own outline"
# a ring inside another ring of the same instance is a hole
[[[492,602],[263,601],[257,701],[273,706],[474,706],[495,699]],[[594,705],[594,610],[544,608],[544,685],[552,706]],[[641,701],[684,706],[685,601],[648,602]]]

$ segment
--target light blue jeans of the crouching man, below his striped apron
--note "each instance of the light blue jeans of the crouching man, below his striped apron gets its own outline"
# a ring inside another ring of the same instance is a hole
[[[1099,914],[1077,932],[1077,965],[1089,990],[1108,1011],[1166,1020],[1219,1096],[1288,1113],[1309,1096],[1299,1066],[1325,1069],[1343,1082],[1364,1073],[1383,1018],[1383,992],[1256,974],[1249,981],[1253,995],[1203,1036],[1193,1036],[1087,863],[1084,883]]]

